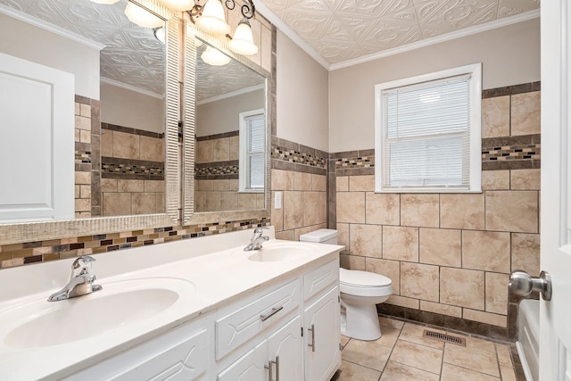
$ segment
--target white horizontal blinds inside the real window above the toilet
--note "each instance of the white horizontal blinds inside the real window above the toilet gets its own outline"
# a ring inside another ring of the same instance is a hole
[[[385,89],[383,188],[469,188],[470,76]]]

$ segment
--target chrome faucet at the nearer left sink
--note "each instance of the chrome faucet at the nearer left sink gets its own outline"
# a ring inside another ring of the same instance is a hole
[[[102,286],[94,285],[95,274],[90,274],[91,262],[95,258],[84,255],[73,261],[71,265],[71,277],[68,284],[55,294],[47,298],[48,302],[62,301],[64,299],[75,298],[77,296],[95,293],[102,289]]]

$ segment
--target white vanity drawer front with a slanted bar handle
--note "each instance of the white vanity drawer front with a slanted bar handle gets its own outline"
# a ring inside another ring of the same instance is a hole
[[[254,295],[249,298],[253,302],[245,306],[242,306],[244,302],[236,302],[233,303],[235,308],[219,311],[216,320],[216,360],[297,309],[301,294],[300,282],[295,279],[270,293]]]

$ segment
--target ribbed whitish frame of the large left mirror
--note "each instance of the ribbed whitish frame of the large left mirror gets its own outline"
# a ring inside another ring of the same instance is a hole
[[[0,225],[0,243],[42,241],[70,236],[89,236],[146,228],[178,225],[178,119],[180,92],[178,85],[179,19],[156,0],[128,0],[153,12],[166,21],[166,126],[165,126],[165,213],[90,219],[68,219]]]

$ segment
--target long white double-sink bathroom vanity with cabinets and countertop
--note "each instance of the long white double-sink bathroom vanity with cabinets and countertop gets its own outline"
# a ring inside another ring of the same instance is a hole
[[[343,246],[267,231],[96,255],[103,290],[59,302],[71,261],[2,270],[2,379],[329,380]]]

